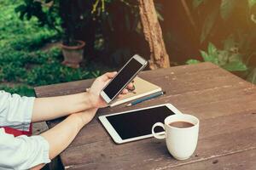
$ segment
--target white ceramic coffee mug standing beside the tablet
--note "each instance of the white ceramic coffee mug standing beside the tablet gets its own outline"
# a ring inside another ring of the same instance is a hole
[[[189,122],[191,127],[172,127],[172,122]],[[154,127],[163,127],[164,133],[154,133]],[[188,159],[195,151],[199,133],[199,119],[195,116],[178,114],[167,116],[165,124],[157,122],[152,127],[152,134],[156,139],[166,139],[169,152],[177,160]]]

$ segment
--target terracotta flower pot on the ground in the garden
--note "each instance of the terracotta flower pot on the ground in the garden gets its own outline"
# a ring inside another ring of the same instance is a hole
[[[64,56],[63,65],[73,68],[79,68],[79,63],[83,60],[85,42],[77,40],[79,45],[67,46],[61,44],[62,54]]]

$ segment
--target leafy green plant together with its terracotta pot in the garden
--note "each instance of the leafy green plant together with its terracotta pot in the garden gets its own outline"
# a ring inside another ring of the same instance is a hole
[[[72,0],[24,0],[15,10],[20,19],[38,18],[39,26],[49,26],[62,35],[62,54],[64,65],[79,67],[83,60],[85,42],[75,38],[81,23],[79,3]],[[61,18],[60,18],[61,17]]]

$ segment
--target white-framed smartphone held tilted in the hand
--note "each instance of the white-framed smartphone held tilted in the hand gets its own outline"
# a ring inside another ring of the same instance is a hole
[[[148,61],[135,54],[102,89],[102,99],[110,104],[146,65]]]

